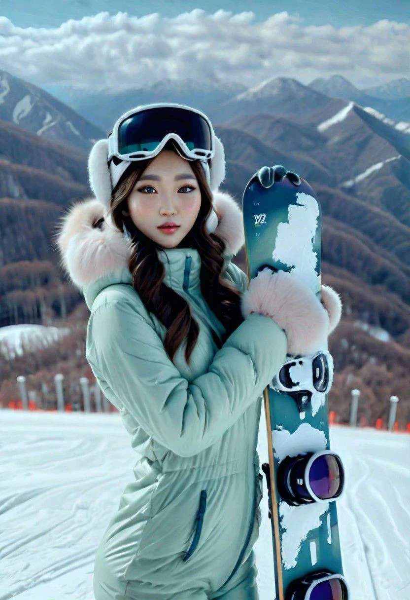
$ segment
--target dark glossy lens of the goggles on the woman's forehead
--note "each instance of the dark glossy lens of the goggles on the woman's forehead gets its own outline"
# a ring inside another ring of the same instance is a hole
[[[152,151],[168,133],[176,133],[190,150],[211,149],[211,132],[198,113],[177,107],[158,107],[131,115],[119,125],[119,154]]]

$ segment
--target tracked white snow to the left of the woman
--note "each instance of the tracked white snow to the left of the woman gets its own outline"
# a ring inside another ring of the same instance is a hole
[[[97,545],[138,455],[117,415],[10,413],[0,412],[0,600],[92,600]]]

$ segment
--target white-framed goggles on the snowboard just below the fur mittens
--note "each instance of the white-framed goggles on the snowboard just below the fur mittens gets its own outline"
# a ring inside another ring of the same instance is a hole
[[[321,351],[308,356],[295,356],[286,361],[273,377],[272,386],[292,396],[299,410],[306,410],[313,394],[327,394],[333,382],[333,358]]]

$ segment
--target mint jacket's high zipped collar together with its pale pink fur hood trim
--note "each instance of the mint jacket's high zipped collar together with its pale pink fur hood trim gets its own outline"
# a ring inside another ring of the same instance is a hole
[[[214,233],[225,242],[224,271],[245,243],[242,211],[227,192],[218,190],[212,194],[219,217]],[[94,197],[74,203],[61,217],[56,245],[62,268],[74,286],[82,291],[90,310],[105,287],[114,283],[132,285],[128,269],[132,244],[105,214],[104,205]],[[200,286],[201,257],[196,248],[164,248],[158,251],[158,258],[164,265],[164,283],[168,287],[189,292]]]

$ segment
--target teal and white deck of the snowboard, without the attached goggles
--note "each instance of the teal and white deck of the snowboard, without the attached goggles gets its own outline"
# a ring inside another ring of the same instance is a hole
[[[321,299],[322,214],[316,194],[281,165],[262,167],[249,180],[242,200],[248,280],[263,265],[292,272]],[[274,275],[273,275],[274,276]],[[319,350],[327,349],[327,344]],[[287,357],[290,358],[290,357]],[[331,361],[333,370],[333,361]],[[291,506],[278,491],[277,472],[287,456],[330,449],[325,394],[312,395],[306,410],[272,382],[263,392],[269,464],[276,599],[285,600],[291,581],[321,569],[343,575],[336,501]]]

